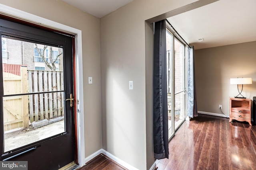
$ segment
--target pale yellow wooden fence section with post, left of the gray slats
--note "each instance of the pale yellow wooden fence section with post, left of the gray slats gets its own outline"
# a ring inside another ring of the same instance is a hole
[[[20,67],[21,76],[3,72],[4,95],[27,93],[27,68]],[[22,79],[23,78],[23,79]],[[4,131],[28,127],[28,96],[3,97]]]

